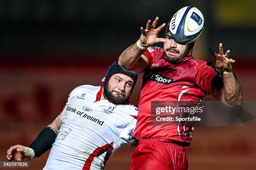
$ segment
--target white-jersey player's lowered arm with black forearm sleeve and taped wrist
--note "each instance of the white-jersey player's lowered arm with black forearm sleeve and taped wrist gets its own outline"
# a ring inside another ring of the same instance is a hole
[[[15,161],[28,161],[34,157],[39,157],[51,148],[57,137],[57,132],[61,127],[59,116],[39,133],[36,140],[29,146],[14,145],[7,150],[6,158]]]

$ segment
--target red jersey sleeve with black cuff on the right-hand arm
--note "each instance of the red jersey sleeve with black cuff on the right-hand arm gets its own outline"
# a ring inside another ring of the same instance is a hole
[[[195,60],[197,85],[207,94],[213,95],[214,84],[222,84],[222,75],[218,69],[206,65],[205,61]],[[213,83],[215,81],[215,83]]]

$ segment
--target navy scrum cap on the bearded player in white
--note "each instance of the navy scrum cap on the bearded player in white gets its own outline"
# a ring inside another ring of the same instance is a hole
[[[103,88],[104,90],[107,89],[107,85],[108,85],[108,81],[110,79],[110,77],[115,74],[115,73],[121,73],[121,74],[125,74],[129,77],[131,77],[131,79],[133,79],[133,87],[134,85],[136,84],[136,81],[137,81],[137,78],[138,78],[138,75],[137,73],[134,73],[134,72],[128,72],[128,71],[125,71],[123,70],[120,65],[118,65],[118,61],[115,61],[112,65],[110,65],[110,67],[108,68],[108,72],[107,72],[107,75],[105,76],[106,79],[103,83]]]

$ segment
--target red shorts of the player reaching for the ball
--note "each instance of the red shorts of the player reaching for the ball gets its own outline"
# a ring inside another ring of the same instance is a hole
[[[187,154],[182,146],[157,139],[138,140],[129,170],[187,170]]]

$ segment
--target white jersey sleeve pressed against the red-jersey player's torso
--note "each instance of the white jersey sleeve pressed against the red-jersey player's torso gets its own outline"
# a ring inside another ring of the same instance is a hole
[[[120,138],[125,140],[126,143],[133,142],[133,132],[137,122],[138,108],[132,107],[128,109],[127,125],[121,130]]]

